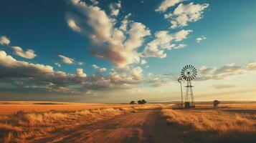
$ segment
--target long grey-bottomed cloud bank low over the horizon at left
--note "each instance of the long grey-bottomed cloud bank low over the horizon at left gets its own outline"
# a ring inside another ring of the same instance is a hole
[[[17,61],[12,56],[0,51],[0,82],[9,83],[15,91],[25,94],[83,94],[87,91],[105,89],[128,89],[141,82],[142,69],[136,67],[127,72],[113,71],[105,77],[100,74],[87,76],[83,69],[76,74],[54,71],[52,66]],[[10,89],[3,89],[9,90]]]

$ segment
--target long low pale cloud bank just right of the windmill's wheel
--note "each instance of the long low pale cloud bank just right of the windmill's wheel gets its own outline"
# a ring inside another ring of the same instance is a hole
[[[241,74],[250,74],[252,71],[256,71],[256,61],[247,62],[242,66],[227,64],[219,69],[216,67],[202,66],[199,68],[199,77],[196,77],[196,80],[224,79]]]

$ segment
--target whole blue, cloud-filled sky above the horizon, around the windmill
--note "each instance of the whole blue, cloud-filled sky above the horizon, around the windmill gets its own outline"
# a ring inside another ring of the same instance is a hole
[[[256,100],[256,1],[0,0],[0,100]],[[183,89],[185,90],[183,83]]]

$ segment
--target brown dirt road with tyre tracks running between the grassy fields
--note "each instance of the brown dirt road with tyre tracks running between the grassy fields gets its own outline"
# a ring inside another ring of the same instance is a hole
[[[144,109],[31,142],[181,142],[160,117],[160,109]]]

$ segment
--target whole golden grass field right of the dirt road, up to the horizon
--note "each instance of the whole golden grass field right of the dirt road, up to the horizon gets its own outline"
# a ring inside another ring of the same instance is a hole
[[[166,122],[184,127],[184,130],[201,132],[205,137],[208,134],[209,142],[256,142],[256,104],[221,104],[217,108],[201,104],[196,107],[162,109],[161,114]]]

